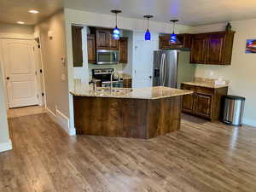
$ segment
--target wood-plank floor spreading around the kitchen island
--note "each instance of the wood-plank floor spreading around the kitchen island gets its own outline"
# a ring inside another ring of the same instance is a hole
[[[1,192],[256,191],[256,129],[183,116],[150,140],[69,137],[47,114],[9,119]]]

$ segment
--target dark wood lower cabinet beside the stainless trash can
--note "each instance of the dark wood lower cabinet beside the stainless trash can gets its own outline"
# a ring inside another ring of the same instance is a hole
[[[221,108],[221,98],[227,95],[228,87],[207,88],[182,84],[182,90],[193,90],[191,95],[183,96],[182,109],[184,113],[193,114],[210,120],[218,120]]]

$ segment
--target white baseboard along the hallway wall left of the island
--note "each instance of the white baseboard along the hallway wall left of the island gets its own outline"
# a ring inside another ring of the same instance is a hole
[[[58,125],[61,126],[61,128],[67,132],[68,135],[70,136],[75,136],[76,135],[76,130],[75,129],[70,129],[69,127],[69,119],[67,118],[66,115],[61,113],[58,109],[56,109],[56,114],[53,113],[49,108],[46,107],[48,110],[48,114],[50,119],[55,121]]]

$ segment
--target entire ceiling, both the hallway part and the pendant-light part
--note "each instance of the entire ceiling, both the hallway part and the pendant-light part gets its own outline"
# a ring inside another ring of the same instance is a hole
[[[34,25],[63,7],[63,0],[0,0],[0,21]],[[255,0],[64,0],[70,9],[110,14],[110,9],[121,9],[122,16],[143,19],[154,15],[154,20],[179,19],[180,24],[198,26],[256,18]],[[38,9],[38,15],[27,11]]]

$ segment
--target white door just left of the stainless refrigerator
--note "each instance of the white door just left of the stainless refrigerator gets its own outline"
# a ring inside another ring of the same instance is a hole
[[[154,50],[158,49],[158,34],[151,33],[151,40],[144,40],[144,32],[134,33],[132,87],[152,86]]]

